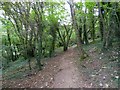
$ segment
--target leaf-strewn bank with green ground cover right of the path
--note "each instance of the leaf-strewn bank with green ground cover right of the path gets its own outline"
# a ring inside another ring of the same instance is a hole
[[[101,43],[84,47],[89,57],[80,61],[79,70],[91,88],[118,88],[118,46],[101,52]]]

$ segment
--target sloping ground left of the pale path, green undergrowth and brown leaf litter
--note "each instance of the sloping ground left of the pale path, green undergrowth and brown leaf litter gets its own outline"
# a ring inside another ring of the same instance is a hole
[[[54,75],[59,71],[59,61],[63,52],[56,50],[54,57],[42,59],[43,69],[38,71],[34,58],[31,60],[32,70],[29,70],[27,61],[16,61],[11,67],[3,71],[3,88],[42,88],[51,84]],[[59,57],[57,57],[59,55]]]

